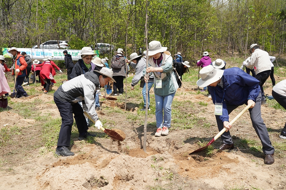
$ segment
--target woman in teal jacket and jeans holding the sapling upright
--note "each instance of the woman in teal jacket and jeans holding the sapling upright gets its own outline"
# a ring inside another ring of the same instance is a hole
[[[169,128],[171,127],[171,106],[179,86],[173,73],[173,59],[171,53],[167,51],[167,47],[162,47],[158,41],[152,41],[149,43],[148,55],[149,67],[146,69],[146,72],[149,75],[153,72],[155,75],[154,94],[157,126],[155,137],[160,137],[161,135],[169,134]],[[144,80],[147,82],[147,75],[144,76]]]

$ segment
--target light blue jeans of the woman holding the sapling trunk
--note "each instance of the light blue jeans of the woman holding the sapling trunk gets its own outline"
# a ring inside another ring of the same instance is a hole
[[[176,92],[167,96],[159,96],[155,94],[156,102],[156,126],[157,128],[166,126],[171,127],[172,102]],[[163,123],[164,110],[164,123]]]

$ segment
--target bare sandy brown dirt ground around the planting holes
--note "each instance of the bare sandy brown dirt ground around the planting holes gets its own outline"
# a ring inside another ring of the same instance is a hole
[[[267,81],[265,92],[271,95],[271,82]],[[55,156],[53,151],[41,154],[44,145],[35,145],[42,131],[34,119],[24,119],[11,109],[0,112],[0,129],[13,126],[21,128],[21,135],[11,139],[17,146],[1,147],[0,189],[41,189],[41,190],[140,190],[140,189],[264,189],[278,190],[286,187],[286,151],[277,151],[276,146],[285,143],[279,139],[285,124],[286,112],[262,105],[262,118],[270,129],[270,140],[276,148],[275,163],[264,164],[263,153],[252,151],[249,147],[237,145],[243,138],[256,140],[249,113],[246,112],[232,127],[235,148],[232,151],[214,152],[206,156],[202,151],[193,155],[190,152],[200,148],[198,140],[209,142],[217,133],[214,105],[204,94],[196,94],[197,86],[184,83],[186,88],[179,88],[175,100],[184,101],[182,109],[192,117],[205,118],[209,128],[195,126],[191,129],[172,128],[164,137],[154,137],[156,128],[147,126],[147,153],[142,150],[144,116],[137,120],[128,119],[128,115],[137,115],[138,107],[127,104],[124,112],[122,101],[104,101],[101,99],[100,118],[107,119],[108,127],[125,132],[126,139],[119,145],[111,139],[96,137],[94,143],[86,143],[73,138],[70,157]],[[31,87],[31,86],[30,86]],[[136,86],[137,87],[137,86]],[[40,87],[38,87],[41,91]],[[152,92],[151,92],[152,93]],[[139,94],[140,96],[140,94]],[[51,118],[60,118],[52,94],[39,94],[11,101],[33,102],[41,114],[50,113]],[[132,97],[128,102],[132,102]],[[205,102],[201,106],[198,102]],[[107,107],[120,107],[122,113],[107,113]],[[230,114],[234,118],[243,106]],[[176,108],[177,109],[177,108]],[[176,111],[176,110],[174,110]],[[174,117],[174,116],[173,116]],[[111,122],[113,121],[113,122]],[[155,121],[150,115],[149,122]],[[187,125],[187,124],[186,124]],[[91,127],[91,131],[103,135]],[[215,148],[221,144],[220,138],[213,143]],[[18,151],[19,148],[26,151]],[[5,162],[4,162],[5,161]]]

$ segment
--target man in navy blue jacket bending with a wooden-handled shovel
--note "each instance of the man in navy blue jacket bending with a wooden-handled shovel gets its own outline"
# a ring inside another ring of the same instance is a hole
[[[212,65],[203,67],[201,78],[197,81],[200,87],[207,86],[215,104],[215,117],[219,131],[224,127],[226,132],[221,135],[223,144],[220,150],[233,149],[234,144],[229,130],[229,114],[240,105],[253,105],[249,109],[252,126],[262,143],[265,164],[274,163],[274,148],[271,145],[267,128],[261,118],[261,90],[259,80],[233,67],[225,70],[216,69]]]

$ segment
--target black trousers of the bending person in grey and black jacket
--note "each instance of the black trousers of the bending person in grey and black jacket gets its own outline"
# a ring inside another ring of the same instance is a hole
[[[88,130],[86,118],[83,115],[83,108],[79,105],[79,103],[71,104],[70,102],[63,102],[57,99],[55,96],[54,102],[57,105],[60,112],[60,117],[62,118],[62,125],[60,126],[57,146],[69,147],[71,144],[71,126],[74,123],[74,119],[79,133],[83,133]]]

